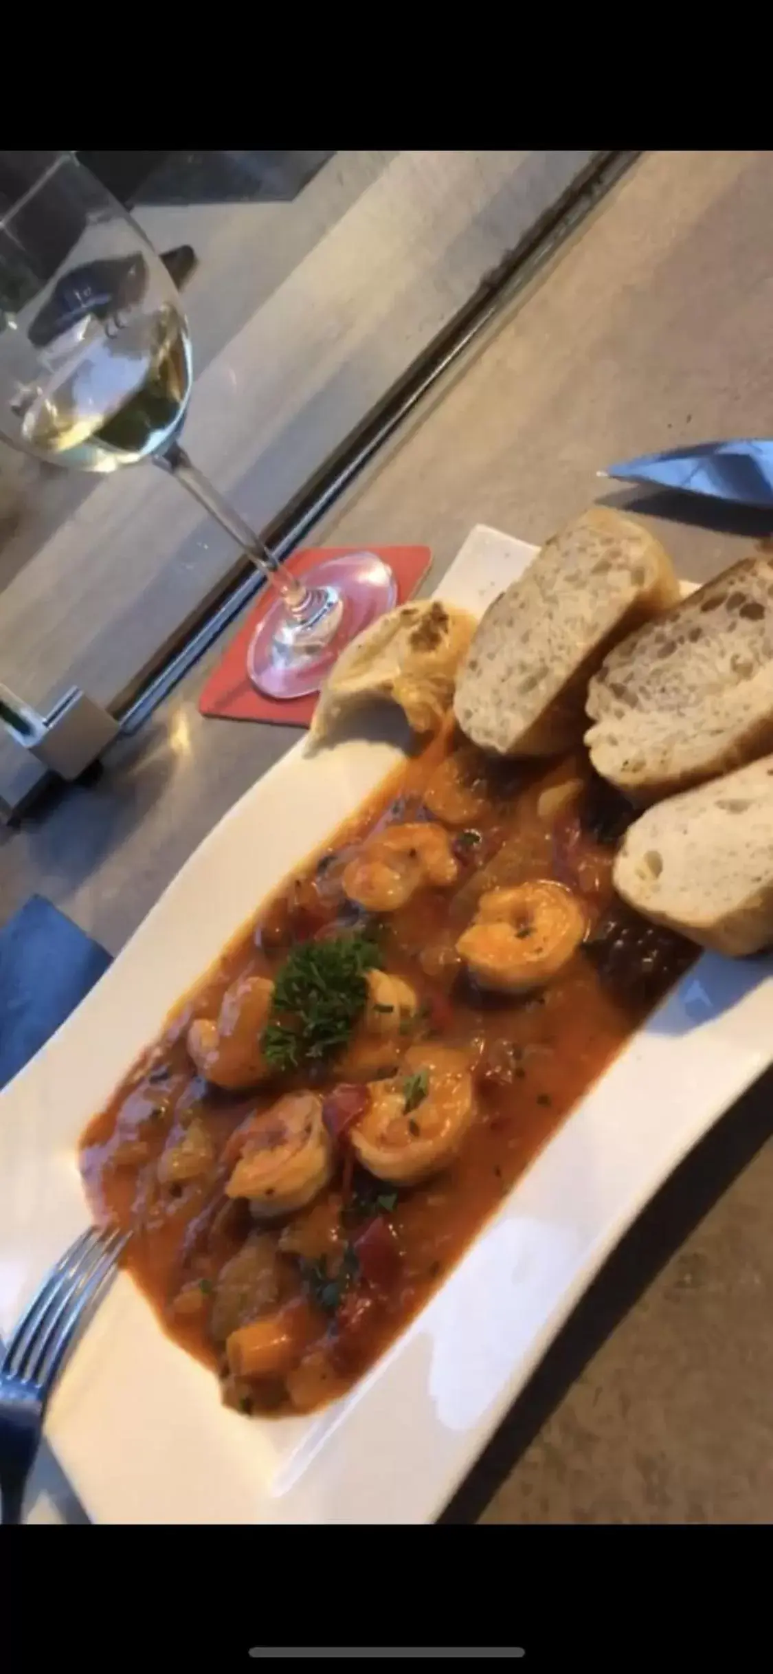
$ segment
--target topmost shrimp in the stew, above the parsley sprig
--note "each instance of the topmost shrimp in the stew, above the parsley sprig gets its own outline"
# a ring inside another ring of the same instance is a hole
[[[452,839],[442,825],[417,820],[386,825],[363,844],[360,854],[343,869],[343,889],[350,901],[368,912],[395,912],[432,884],[447,889],[458,877],[458,860]]]

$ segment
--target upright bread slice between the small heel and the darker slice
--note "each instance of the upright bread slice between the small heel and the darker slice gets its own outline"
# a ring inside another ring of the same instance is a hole
[[[480,619],[453,698],[462,732],[495,755],[572,748],[609,646],[678,598],[671,559],[644,524],[592,506]]]

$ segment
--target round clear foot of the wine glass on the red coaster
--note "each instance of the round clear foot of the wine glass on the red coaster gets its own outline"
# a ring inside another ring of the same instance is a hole
[[[316,611],[296,623],[281,599],[268,606],[249,641],[248,675],[268,698],[306,698],[355,634],[397,604],[397,579],[375,552],[326,557],[303,573]]]

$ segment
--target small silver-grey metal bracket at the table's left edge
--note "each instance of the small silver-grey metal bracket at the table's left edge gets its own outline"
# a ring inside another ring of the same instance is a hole
[[[70,686],[50,715],[38,715],[0,681],[0,720],[12,738],[59,778],[80,778],[119,733],[119,721],[79,686]]]

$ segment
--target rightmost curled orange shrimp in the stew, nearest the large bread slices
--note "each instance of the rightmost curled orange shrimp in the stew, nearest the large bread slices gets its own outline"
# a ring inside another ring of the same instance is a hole
[[[564,884],[532,879],[485,891],[457,949],[484,988],[520,994],[549,983],[586,929],[586,914]]]

